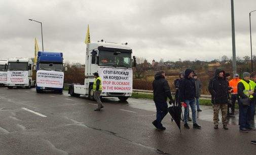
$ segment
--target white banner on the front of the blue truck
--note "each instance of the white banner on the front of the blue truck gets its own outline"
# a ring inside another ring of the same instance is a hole
[[[63,88],[64,72],[38,70],[36,72],[36,86]]]

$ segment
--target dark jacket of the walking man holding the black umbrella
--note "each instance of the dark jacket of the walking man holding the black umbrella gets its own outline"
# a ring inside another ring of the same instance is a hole
[[[173,102],[170,86],[162,74],[157,73],[155,75],[155,80],[153,81],[153,93],[155,102],[166,103],[167,97]]]

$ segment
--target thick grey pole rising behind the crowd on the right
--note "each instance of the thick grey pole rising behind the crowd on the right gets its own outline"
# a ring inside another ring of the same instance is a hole
[[[236,73],[236,39],[235,39],[235,21],[234,21],[234,1],[231,0],[231,21],[232,21],[232,51],[233,51],[233,75]]]

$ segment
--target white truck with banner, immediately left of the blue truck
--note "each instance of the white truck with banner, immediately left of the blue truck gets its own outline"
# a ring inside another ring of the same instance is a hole
[[[8,60],[7,87],[26,87],[35,85],[32,80],[32,58],[11,58]]]

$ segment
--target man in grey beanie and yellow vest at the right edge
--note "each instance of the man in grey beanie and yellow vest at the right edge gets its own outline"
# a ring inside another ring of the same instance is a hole
[[[238,83],[238,95],[239,100],[239,129],[240,132],[247,133],[248,130],[252,130],[250,125],[250,104],[254,104],[253,92],[254,84],[250,81],[250,73],[244,72],[243,79]]]

